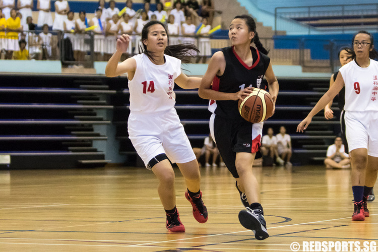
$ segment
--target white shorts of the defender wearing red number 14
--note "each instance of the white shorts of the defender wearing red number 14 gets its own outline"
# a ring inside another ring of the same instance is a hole
[[[131,112],[128,131],[146,167],[152,158],[162,153],[172,163],[187,163],[196,159],[174,108],[154,114]]]

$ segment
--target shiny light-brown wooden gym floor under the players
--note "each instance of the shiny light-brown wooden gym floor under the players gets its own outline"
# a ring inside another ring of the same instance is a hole
[[[157,179],[145,168],[0,170],[0,250],[291,251],[292,242],[378,243],[378,200],[369,203],[365,221],[351,220],[350,170],[300,166],[254,171],[270,234],[263,241],[240,225],[243,207],[234,179],[223,167],[201,168],[209,211],[205,224],[193,218],[175,168],[176,204],[185,233],[167,232]]]

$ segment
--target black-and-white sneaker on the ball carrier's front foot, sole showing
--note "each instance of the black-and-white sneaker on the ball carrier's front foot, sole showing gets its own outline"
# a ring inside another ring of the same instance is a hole
[[[263,210],[252,210],[247,207],[246,210],[241,210],[239,212],[239,221],[243,227],[254,232],[256,239],[264,240],[269,237]]]

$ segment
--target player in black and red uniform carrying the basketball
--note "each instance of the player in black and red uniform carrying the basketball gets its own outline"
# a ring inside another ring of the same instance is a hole
[[[237,103],[254,88],[266,89],[262,82],[264,75],[274,104],[279,86],[253,18],[236,16],[229,26],[228,36],[232,46],[222,48],[212,56],[199,95],[210,100],[212,137],[224,163],[236,179],[236,187],[246,207],[246,210],[239,212],[239,221],[245,228],[254,231],[256,239],[262,240],[269,234],[252,165],[255,158],[261,157],[263,123],[244,120]],[[257,49],[250,46],[252,42]]]

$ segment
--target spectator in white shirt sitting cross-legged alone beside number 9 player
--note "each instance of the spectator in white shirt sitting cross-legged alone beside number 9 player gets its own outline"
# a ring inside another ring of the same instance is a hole
[[[350,159],[349,155],[345,153],[343,140],[340,137],[335,138],[335,143],[330,145],[327,149],[327,158],[324,164],[327,169],[349,169]]]

